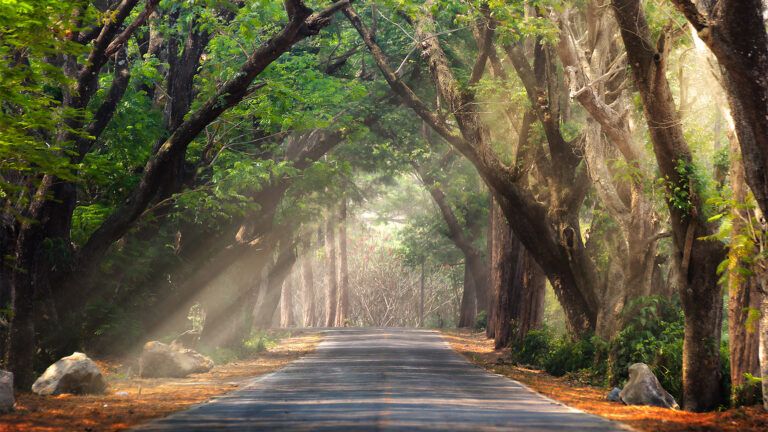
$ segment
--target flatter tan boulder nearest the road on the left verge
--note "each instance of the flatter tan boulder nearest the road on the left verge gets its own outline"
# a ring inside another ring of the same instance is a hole
[[[181,378],[208,372],[211,368],[213,360],[179,344],[151,341],[144,345],[141,353],[140,370],[145,378]]]

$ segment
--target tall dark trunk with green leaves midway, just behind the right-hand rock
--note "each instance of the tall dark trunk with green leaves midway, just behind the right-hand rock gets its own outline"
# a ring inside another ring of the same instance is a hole
[[[665,75],[668,41],[650,38],[640,0],[613,0],[614,11],[643,101],[656,161],[667,182],[674,259],[680,269],[680,297],[685,312],[683,407],[714,409],[721,402],[720,332],[722,295],[717,267],[725,258],[722,244],[703,237],[715,233],[706,219],[693,173],[693,158]],[[663,127],[661,127],[663,126]]]

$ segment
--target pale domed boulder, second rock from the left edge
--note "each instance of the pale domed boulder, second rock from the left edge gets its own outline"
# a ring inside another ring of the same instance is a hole
[[[32,391],[39,395],[103,393],[106,388],[107,382],[99,367],[79,352],[48,366],[32,384]]]

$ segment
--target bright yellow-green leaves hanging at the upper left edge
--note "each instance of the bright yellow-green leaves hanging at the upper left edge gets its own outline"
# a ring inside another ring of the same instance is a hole
[[[82,52],[67,39],[73,8],[56,0],[0,0],[0,199],[26,198],[15,194],[14,174],[74,179],[69,149],[50,137],[64,119],[81,113],[61,109],[61,89],[70,81],[46,61],[47,56]]]

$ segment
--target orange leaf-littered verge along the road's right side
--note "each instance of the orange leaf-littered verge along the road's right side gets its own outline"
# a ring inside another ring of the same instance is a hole
[[[557,378],[544,371],[505,363],[509,350],[494,351],[485,332],[443,331],[451,347],[470,362],[491,372],[519,381],[565,405],[619,421],[642,431],[767,431],[768,413],[762,407],[741,407],[721,412],[690,413],[656,407],[628,406],[605,399],[609,388]]]

